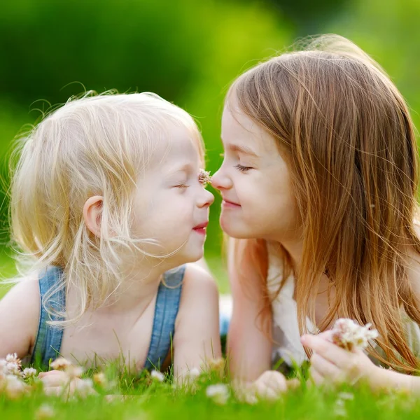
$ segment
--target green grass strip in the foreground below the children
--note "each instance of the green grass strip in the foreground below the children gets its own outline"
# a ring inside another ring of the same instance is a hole
[[[373,395],[367,389],[344,387],[324,390],[302,386],[289,391],[276,402],[259,401],[255,405],[239,402],[233,394],[225,405],[207,398],[206,388],[218,379],[199,379],[194,391],[176,389],[168,382],[147,378],[121,377],[119,386],[130,397],[109,402],[104,392],[87,399],[64,400],[46,397],[41,390],[19,400],[0,397],[1,419],[36,419],[41,405],[49,405],[55,419],[419,419],[420,399],[395,393]],[[116,392],[120,392],[116,390]]]

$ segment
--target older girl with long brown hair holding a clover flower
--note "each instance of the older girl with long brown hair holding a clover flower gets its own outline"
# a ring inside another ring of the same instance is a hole
[[[341,36],[315,38],[235,80],[222,140],[233,377],[309,358],[317,383],[420,390],[417,146],[386,73]],[[337,318],[372,323],[367,354],[316,335]]]

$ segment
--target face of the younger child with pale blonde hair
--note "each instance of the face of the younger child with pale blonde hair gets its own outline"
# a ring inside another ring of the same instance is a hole
[[[153,145],[151,165],[139,180],[134,235],[155,241],[141,248],[168,255],[175,267],[202,257],[214,196],[199,181],[201,164],[192,134],[176,126],[170,132],[170,140]]]

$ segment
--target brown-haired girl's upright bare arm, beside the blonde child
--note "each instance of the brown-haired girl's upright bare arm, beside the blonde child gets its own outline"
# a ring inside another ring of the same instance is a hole
[[[258,328],[262,309],[262,288],[255,267],[244,261],[242,267],[233,266],[229,251],[229,279],[233,297],[233,313],[228,332],[228,359],[232,379],[255,381],[271,365],[272,342]],[[247,273],[242,285],[238,272]],[[271,320],[270,320],[271,322]]]

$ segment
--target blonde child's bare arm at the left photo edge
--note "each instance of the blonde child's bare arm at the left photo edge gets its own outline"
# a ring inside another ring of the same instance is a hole
[[[29,355],[38,330],[39,299],[38,281],[25,279],[0,300],[0,358]]]

